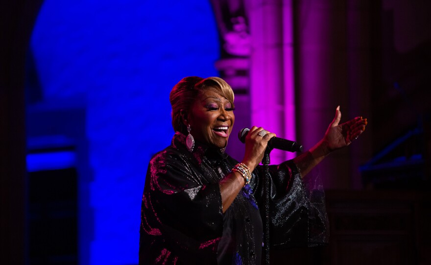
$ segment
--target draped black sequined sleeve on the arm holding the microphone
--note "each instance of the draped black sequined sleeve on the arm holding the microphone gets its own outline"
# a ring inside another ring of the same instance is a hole
[[[215,253],[223,222],[219,186],[205,183],[192,168],[190,161],[167,151],[151,159],[142,200],[140,259],[206,259]]]

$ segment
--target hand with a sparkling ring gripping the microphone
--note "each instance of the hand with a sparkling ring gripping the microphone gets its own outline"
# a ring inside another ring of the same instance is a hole
[[[242,163],[246,164],[250,171],[253,171],[262,161],[269,139],[276,136],[275,133],[264,130],[265,134],[263,130],[262,127],[253,126],[245,136],[245,154]]]

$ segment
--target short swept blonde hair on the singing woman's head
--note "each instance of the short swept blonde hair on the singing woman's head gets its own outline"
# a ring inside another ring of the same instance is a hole
[[[172,127],[175,132],[187,132],[181,119],[181,110],[190,111],[197,95],[209,88],[216,89],[221,96],[234,104],[234,91],[223,79],[219,77],[184,77],[172,88],[169,94],[169,101],[172,106]]]

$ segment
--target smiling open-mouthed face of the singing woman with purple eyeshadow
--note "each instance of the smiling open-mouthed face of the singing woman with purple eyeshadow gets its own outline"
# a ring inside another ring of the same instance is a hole
[[[188,115],[193,138],[217,148],[225,147],[235,121],[233,107],[216,89],[202,90]]]

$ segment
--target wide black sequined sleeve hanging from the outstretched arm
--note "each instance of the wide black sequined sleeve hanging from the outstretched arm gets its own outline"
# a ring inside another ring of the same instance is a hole
[[[325,194],[318,177],[304,179],[289,160],[269,166],[270,242],[273,246],[316,246],[328,242]],[[254,193],[263,205],[263,166],[254,171]]]

